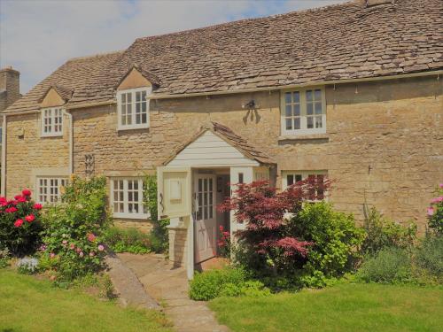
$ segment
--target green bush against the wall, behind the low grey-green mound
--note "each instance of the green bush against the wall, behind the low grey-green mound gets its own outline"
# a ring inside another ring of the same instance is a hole
[[[416,224],[402,226],[388,220],[375,207],[364,205],[363,228],[366,237],[361,245],[363,255],[374,255],[386,247],[408,248],[416,241]]]

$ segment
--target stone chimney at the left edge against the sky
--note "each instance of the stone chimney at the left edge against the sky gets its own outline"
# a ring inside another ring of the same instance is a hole
[[[12,66],[0,69],[0,112],[11,106],[20,95],[20,73]]]

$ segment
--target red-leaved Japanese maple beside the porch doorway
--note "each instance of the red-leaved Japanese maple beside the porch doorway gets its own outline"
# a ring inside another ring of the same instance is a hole
[[[236,259],[260,274],[276,275],[303,266],[315,243],[292,234],[284,215],[297,214],[304,201],[323,198],[329,187],[329,181],[317,183],[316,178],[299,181],[281,193],[268,181],[237,184],[235,195],[219,206],[221,212],[234,210],[237,222],[246,223],[236,233],[241,247]]]

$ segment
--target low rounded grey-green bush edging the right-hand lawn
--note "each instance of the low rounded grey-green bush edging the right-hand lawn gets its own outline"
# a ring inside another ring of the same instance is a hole
[[[363,261],[357,278],[363,282],[413,282],[409,252],[402,248],[386,247]]]

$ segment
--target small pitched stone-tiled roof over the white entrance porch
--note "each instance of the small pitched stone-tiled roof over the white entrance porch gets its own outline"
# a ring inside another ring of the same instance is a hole
[[[183,146],[174,152],[167,160],[163,163],[163,165],[167,165],[171,162],[181,151],[186,149],[190,143],[194,142],[198,139],[199,136],[206,133],[206,131],[212,132],[214,135],[220,137],[223,141],[236,148],[237,151],[242,153],[246,158],[250,158],[255,160],[263,165],[274,165],[275,162],[272,161],[265,153],[261,152],[257,148],[253,147],[250,143],[242,138],[241,136],[235,134],[229,127],[223,126],[220,123],[211,121],[206,126],[202,127],[197,135],[194,135],[187,143],[183,144]]]

